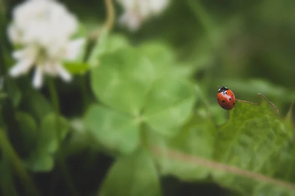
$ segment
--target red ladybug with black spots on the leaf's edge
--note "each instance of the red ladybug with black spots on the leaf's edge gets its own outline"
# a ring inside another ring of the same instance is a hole
[[[217,101],[218,104],[226,110],[231,110],[235,106],[236,98],[234,93],[226,88],[225,86],[222,86],[218,89],[217,94]]]

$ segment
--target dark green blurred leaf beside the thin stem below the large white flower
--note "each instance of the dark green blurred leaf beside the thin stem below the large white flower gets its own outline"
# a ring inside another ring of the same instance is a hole
[[[58,128],[58,129],[57,129]],[[34,172],[46,172],[54,166],[53,155],[58,149],[59,136],[62,140],[69,130],[69,123],[63,117],[50,113],[41,121],[36,149],[25,160],[27,167]],[[59,131],[60,133],[57,133]]]

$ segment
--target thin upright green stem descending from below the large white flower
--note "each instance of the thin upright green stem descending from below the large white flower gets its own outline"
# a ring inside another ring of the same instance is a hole
[[[52,104],[53,104],[54,110],[56,112],[56,134],[57,134],[57,139],[58,139],[59,167],[60,167],[61,172],[63,173],[64,180],[66,181],[66,184],[71,192],[71,195],[78,196],[77,191],[74,187],[74,184],[71,180],[70,173],[68,172],[68,169],[67,169],[65,161],[64,161],[63,150],[61,149],[62,135],[61,135],[61,131],[59,129],[60,128],[59,127],[59,98],[58,98],[58,92],[56,90],[53,78],[49,78],[48,85],[49,85],[50,96],[52,99]]]

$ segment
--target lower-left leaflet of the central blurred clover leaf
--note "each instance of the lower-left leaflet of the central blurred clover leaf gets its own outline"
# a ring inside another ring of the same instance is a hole
[[[110,149],[131,153],[139,145],[139,122],[109,108],[91,106],[84,124],[97,141]]]

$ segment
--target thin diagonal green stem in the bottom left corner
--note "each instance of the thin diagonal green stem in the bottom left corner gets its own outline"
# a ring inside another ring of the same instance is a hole
[[[29,196],[38,196],[39,192],[34,185],[33,180],[29,176],[23,162],[19,158],[18,154],[15,152],[11,146],[8,138],[5,135],[4,130],[0,129],[0,147],[5,153],[7,153],[8,160],[12,164],[12,167],[16,170],[17,174],[21,178],[21,182],[24,185],[25,190]]]

